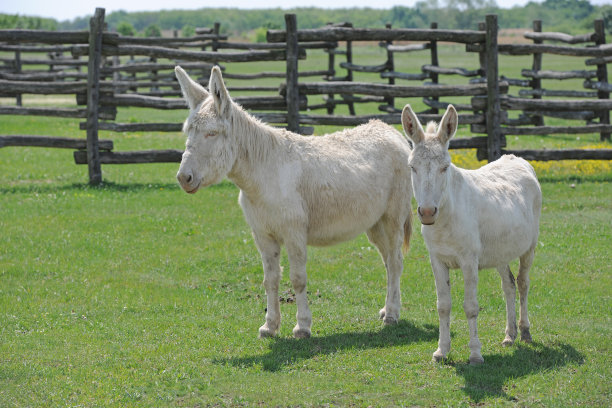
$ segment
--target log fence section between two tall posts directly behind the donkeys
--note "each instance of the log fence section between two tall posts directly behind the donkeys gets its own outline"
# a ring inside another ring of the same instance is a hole
[[[472,71],[458,68],[442,68],[438,65],[437,43],[440,41],[484,46],[487,47],[487,50],[490,50],[487,55],[496,56],[496,42],[491,42],[490,39],[497,38],[497,17],[494,15],[488,16],[486,27],[490,27],[490,32],[485,30],[444,30],[438,29],[435,24],[430,29],[394,29],[390,26],[384,29],[357,29],[349,24],[341,24],[329,25],[321,29],[295,30],[296,32],[293,37],[296,37],[296,39],[294,40],[291,39],[292,33],[291,26],[289,25],[287,25],[287,30],[268,31],[267,39],[272,43],[290,44],[295,42],[301,45],[309,41],[322,41],[344,42],[346,44],[345,52],[339,52],[337,49],[328,50],[330,61],[333,61],[336,55],[346,55],[346,62],[339,63],[339,67],[347,70],[346,76],[328,77],[325,78],[326,81],[324,82],[296,83],[288,80],[286,85],[281,87],[281,93],[284,95],[289,95],[290,89],[294,87],[297,89],[296,94],[298,95],[322,95],[324,98],[327,97],[324,107],[327,109],[328,115],[300,114],[291,119],[294,123],[290,123],[289,127],[297,129],[300,124],[355,126],[371,119],[380,119],[390,124],[399,124],[401,122],[400,113],[403,106],[396,107],[394,102],[395,98],[400,97],[423,98],[425,103],[430,106],[430,109],[419,113],[420,120],[439,121],[441,115],[438,110],[446,108],[448,105],[448,103],[439,102],[439,98],[483,96],[485,101],[491,101],[491,106],[486,105],[484,108],[474,110],[471,105],[468,107],[458,105],[462,110],[472,111],[467,114],[461,113],[459,115],[459,122],[461,124],[479,124],[485,127],[485,129],[487,123],[499,123],[502,117],[502,112],[498,107],[499,93],[507,92],[508,85],[505,82],[498,83],[496,58],[487,67],[480,67]],[[379,43],[381,47],[386,49],[387,60],[379,65],[360,65],[354,63],[352,60],[352,43],[354,41]],[[397,41],[420,42],[420,44],[395,45],[394,42]],[[394,65],[395,53],[423,50],[430,50],[431,63],[423,65],[421,72],[405,73],[396,71]],[[329,66],[333,66],[333,63],[330,62]],[[377,74],[387,83],[356,82],[354,81],[353,72]],[[466,77],[475,75],[486,77],[487,73],[489,74],[488,77],[491,78],[491,83],[466,83],[465,85],[452,86],[438,83],[439,75],[458,74]],[[398,85],[395,82],[396,79],[418,81],[421,83],[414,86]],[[428,79],[431,82],[423,83],[424,80]],[[486,97],[489,89],[493,89],[492,95],[495,97]],[[336,99],[335,95],[340,95],[342,99]],[[384,113],[378,115],[355,114],[355,104],[371,102],[380,103],[379,110]],[[348,116],[333,114],[334,109],[339,104],[349,105]],[[489,118],[486,116],[487,112],[490,113]],[[490,160],[499,157],[501,155],[501,147],[505,144],[503,136],[499,133],[499,126],[483,130],[479,133],[487,133],[487,136],[452,140],[451,147],[477,148],[486,151],[489,145],[491,145],[494,147],[493,150],[486,153],[487,157]]]

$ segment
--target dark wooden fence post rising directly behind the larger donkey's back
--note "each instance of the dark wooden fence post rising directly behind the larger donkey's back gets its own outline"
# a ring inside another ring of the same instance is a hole
[[[300,94],[298,89],[297,17],[285,14],[287,29],[287,129],[300,130]]]

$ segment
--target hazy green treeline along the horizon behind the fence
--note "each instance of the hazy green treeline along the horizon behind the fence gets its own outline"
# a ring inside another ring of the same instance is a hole
[[[426,0],[419,1],[413,7],[395,6],[388,10],[277,8],[245,12],[243,9],[203,8],[155,12],[118,11],[108,14],[106,21],[111,30],[132,35],[152,35],[150,33],[157,33],[159,29],[182,30],[191,34],[193,28],[212,27],[214,22],[221,23],[224,33],[243,34],[262,28],[282,28],[285,13],[297,14],[300,28],[316,28],[328,22],[345,21],[356,27],[381,27],[391,23],[394,28],[426,28],[435,21],[441,28],[475,29],[478,22],[484,21],[486,14],[494,13],[499,16],[501,28],[529,28],[533,20],[542,20],[547,31],[574,33],[592,29],[593,20],[603,18],[608,32],[612,32],[612,5],[595,6],[588,0],[532,1],[511,9],[497,7],[495,0]],[[0,28],[71,30],[86,29],[88,24],[89,17],[56,22],[52,19],[0,14]]]

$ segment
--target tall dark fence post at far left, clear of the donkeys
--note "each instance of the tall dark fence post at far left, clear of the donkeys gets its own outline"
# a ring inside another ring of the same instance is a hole
[[[100,184],[102,182],[98,144],[98,109],[103,29],[104,9],[96,8],[96,12],[89,22],[89,61],[87,64],[87,167],[89,169],[89,184]]]

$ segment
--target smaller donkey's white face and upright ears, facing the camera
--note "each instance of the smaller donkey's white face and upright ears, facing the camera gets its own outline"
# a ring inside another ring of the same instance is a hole
[[[457,131],[458,117],[449,105],[440,125],[427,124],[424,131],[419,119],[406,105],[402,111],[404,132],[414,143],[408,164],[412,170],[412,189],[417,200],[417,213],[424,225],[431,225],[438,217],[438,207],[446,191],[451,166],[448,141]]]

